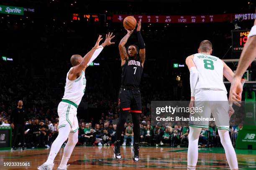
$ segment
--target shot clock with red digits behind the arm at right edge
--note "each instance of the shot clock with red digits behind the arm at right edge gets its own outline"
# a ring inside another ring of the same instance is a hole
[[[250,30],[234,30],[232,31],[232,50],[233,52],[241,52],[247,41]]]

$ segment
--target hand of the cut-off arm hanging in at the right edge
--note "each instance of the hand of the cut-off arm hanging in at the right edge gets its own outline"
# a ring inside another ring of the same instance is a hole
[[[242,92],[243,86],[241,84],[241,78],[235,76],[231,82],[229,94],[231,95],[233,103],[239,107],[241,106]]]

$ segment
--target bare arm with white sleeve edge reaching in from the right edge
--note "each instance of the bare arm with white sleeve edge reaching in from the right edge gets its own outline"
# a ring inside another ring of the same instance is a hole
[[[231,82],[230,86],[230,95],[234,104],[240,106],[239,102],[242,100],[242,92],[243,86],[241,85],[241,78],[249,67],[251,62],[256,57],[256,20],[254,20],[254,26],[251,29],[248,40],[246,41],[245,46],[243,47],[243,51],[241,53],[241,57],[238,62],[238,67],[236,69],[236,73]]]

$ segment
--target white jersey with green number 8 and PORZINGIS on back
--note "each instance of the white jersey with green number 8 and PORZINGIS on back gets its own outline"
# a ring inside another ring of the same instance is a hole
[[[224,90],[227,93],[223,83],[222,60],[212,55],[197,53],[194,54],[193,61],[195,62],[198,71],[198,80],[195,90]]]

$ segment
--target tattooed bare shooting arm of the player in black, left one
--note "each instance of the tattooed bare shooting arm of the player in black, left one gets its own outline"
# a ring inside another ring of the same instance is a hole
[[[127,29],[125,29],[125,30],[127,30]],[[118,47],[119,47],[120,57],[121,57],[121,61],[122,61],[121,65],[124,65],[125,61],[128,60],[128,55],[127,55],[127,52],[126,52],[126,49],[125,49],[125,44],[126,44],[128,38],[133,33],[133,30],[127,30],[127,34],[119,42]]]

